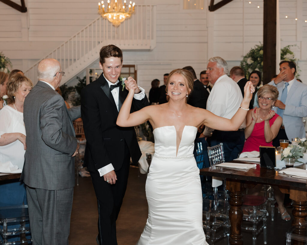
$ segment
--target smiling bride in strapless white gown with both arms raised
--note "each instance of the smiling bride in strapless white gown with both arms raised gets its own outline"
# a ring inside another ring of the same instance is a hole
[[[149,120],[153,126],[155,154],[146,180],[148,219],[138,245],[207,244],[202,224],[202,194],[199,169],[193,157],[197,126],[204,124],[217,130],[238,130],[246,117],[254,92],[251,82],[244,87],[242,108],[231,119],[186,103],[193,89],[188,70],[173,70],[166,92],[169,102],[151,105],[130,114],[136,82],[119,111],[117,125],[136,126]]]

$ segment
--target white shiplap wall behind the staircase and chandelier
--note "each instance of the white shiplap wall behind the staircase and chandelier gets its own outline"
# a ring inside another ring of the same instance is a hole
[[[14,0],[16,3],[20,1]],[[138,0],[157,5],[157,45],[152,51],[124,51],[124,63],[135,64],[146,91],[164,73],[191,65],[197,76],[211,56],[221,56],[229,68],[239,65],[251,47],[262,42],[263,0],[234,0],[213,13],[184,10],[184,0]],[[204,6],[208,6],[204,0]],[[257,6],[260,6],[258,9]],[[293,48],[307,83],[307,0],[280,0],[281,47]],[[25,70],[97,17],[95,0],[28,0],[27,13],[0,2],[0,50],[13,68]],[[289,17],[299,16],[299,21]],[[98,58],[98,57],[97,57]],[[98,62],[96,63],[98,66]],[[93,65],[91,65],[93,66]]]

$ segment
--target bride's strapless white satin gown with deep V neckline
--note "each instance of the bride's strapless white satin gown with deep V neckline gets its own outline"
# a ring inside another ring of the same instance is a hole
[[[195,158],[197,128],[185,126],[176,156],[175,126],[153,130],[155,154],[146,180],[148,219],[137,245],[203,245],[202,194]]]

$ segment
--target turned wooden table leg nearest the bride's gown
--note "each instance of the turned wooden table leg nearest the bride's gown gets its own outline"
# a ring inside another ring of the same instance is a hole
[[[242,211],[242,184],[239,180],[227,179],[226,188],[230,191],[230,244],[231,245],[242,245],[243,239],[241,235],[241,223],[243,220]]]

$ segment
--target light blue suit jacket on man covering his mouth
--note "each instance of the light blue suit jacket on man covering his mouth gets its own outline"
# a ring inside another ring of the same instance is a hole
[[[282,96],[282,90],[285,82],[280,82],[275,85],[274,81],[268,84],[277,87],[279,95],[278,100]],[[307,116],[307,85],[294,79],[294,82],[288,92],[285,102],[286,108],[282,116],[282,121],[285,126],[285,131],[288,139],[296,137],[305,137],[305,127],[303,124],[303,117]],[[274,107],[277,111],[277,107]]]

